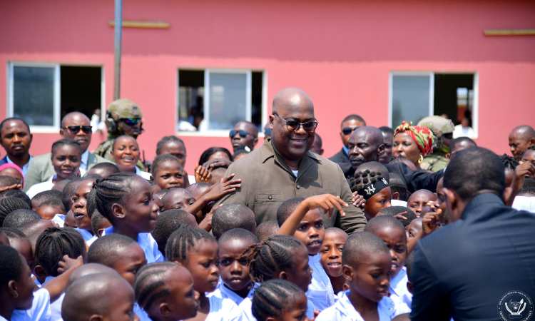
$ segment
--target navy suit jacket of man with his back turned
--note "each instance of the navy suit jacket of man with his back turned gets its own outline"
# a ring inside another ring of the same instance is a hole
[[[533,300],[534,230],[533,213],[506,207],[492,193],[477,195],[460,220],[418,242],[410,319],[501,320],[497,308],[506,292]]]

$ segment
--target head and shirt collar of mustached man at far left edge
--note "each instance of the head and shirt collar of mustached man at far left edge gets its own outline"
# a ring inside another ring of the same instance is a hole
[[[6,151],[6,156],[0,160],[0,165],[13,163],[21,168],[26,175],[30,163],[31,146],[30,126],[21,118],[7,118],[0,123],[0,145]]]

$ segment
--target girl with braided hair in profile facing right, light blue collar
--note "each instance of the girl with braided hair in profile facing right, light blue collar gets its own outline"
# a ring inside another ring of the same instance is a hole
[[[151,235],[158,219],[158,206],[148,181],[133,173],[118,173],[99,181],[94,189],[96,209],[111,223],[103,235],[128,236],[141,246],[148,264],[163,261],[158,243]],[[91,246],[96,239],[93,237],[88,244]]]

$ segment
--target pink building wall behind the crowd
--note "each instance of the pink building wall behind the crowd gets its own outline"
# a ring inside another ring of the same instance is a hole
[[[125,0],[123,19],[168,21],[170,29],[123,29],[121,96],[141,106],[138,141],[148,159],[175,133],[178,68],[267,72],[275,93],[305,90],[315,103],[324,156],[340,150],[350,113],[388,125],[391,71],[477,72],[479,146],[509,153],[515,126],[535,126],[535,38],[488,37],[484,29],[533,29],[533,1],[166,1]],[[113,1],[1,1],[0,74],[9,61],[103,66],[113,101]],[[0,118],[6,116],[0,77]],[[267,116],[265,116],[267,117]],[[31,153],[57,134],[34,133]],[[228,137],[182,137],[191,173],[210,146]],[[103,137],[93,136],[90,149]],[[260,139],[262,141],[262,139]]]

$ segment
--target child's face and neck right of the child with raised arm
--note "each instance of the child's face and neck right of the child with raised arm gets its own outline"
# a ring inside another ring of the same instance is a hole
[[[335,291],[335,294],[349,289],[342,273],[342,249],[347,237],[347,233],[340,228],[327,228],[320,249],[322,267],[331,280],[332,290]]]

